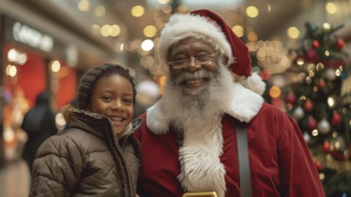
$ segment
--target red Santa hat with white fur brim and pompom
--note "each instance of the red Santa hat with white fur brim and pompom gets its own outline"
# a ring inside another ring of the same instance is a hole
[[[196,10],[191,13],[175,13],[161,31],[158,53],[161,64],[167,60],[168,48],[182,39],[204,36],[219,47],[222,55],[227,56],[227,67],[236,75],[245,88],[262,94],[265,83],[257,73],[251,73],[250,53],[244,42],[239,39],[225,21],[209,10]]]

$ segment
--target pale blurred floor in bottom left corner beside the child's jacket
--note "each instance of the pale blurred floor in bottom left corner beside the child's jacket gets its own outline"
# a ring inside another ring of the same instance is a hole
[[[12,161],[0,168],[0,197],[28,197],[30,173],[23,160]]]

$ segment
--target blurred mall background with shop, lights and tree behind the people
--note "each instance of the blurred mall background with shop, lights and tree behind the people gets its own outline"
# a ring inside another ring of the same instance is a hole
[[[167,80],[160,31],[196,9],[218,13],[244,41],[263,98],[299,125],[327,196],[351,196],[351,0],[0,0],[0,196],[28,196],[21,123],[40,92],[64,130],[61,109],[82,73],[122,64],[140,116]]]

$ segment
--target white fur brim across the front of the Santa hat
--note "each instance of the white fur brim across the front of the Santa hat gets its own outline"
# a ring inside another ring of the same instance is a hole
[[[210,38],[219,46],[222,54],[229,58],[228,63],[233,62],[232,49],[227,41],[226,35],[214,21],[200,15],[175,13],[164,29],[158,43],[159,61],[165,64],[169,47],[182,39],[202,35]]]

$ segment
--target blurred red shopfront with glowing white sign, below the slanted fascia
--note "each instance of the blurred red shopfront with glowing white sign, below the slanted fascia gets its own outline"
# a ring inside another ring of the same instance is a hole
[[[21,130],[22,118],[34,106],[41,91],[52,93],[55,111],[74,98],[77,71],[75,64],[67,62],[74,63],[77,53],[68,44],[22,21],[4,15],[1,21],[3,126],[0,140],[3,152],[0,156],[3,158],[0,161],[7,162],[21,158],[21,148],[26,141]]]

